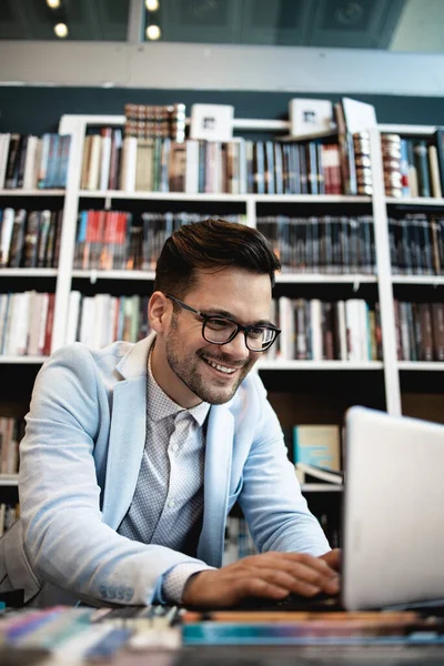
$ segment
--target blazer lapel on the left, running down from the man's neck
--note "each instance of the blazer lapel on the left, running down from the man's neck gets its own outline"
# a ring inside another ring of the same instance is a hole
[[[113,391],[103,519],[117,529],[135,490],[147,434],[147,362],[153,335],[137,343],[117,365],[124,381]]]

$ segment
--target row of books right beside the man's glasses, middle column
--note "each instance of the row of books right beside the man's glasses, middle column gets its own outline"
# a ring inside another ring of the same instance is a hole
[[[270,361],[382,360],[379,303],[281,296],[272,301],[271,317],[282,333],[266,352]]]

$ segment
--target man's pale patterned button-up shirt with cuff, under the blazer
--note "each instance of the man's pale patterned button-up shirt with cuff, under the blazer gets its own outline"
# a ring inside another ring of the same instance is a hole
[[[118,533],[195,557],[203,516],[204,422],[209,403],[184,410],[147,374],[147,438],[131,506]],[[192,573],[211,568],[184,563],[164,577],[163,593],[180,603]]]

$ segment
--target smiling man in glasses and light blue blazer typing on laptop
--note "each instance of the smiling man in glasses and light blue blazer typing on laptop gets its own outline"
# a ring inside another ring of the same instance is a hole
[[[21,521],[16,547],[4,539],[4,581],[39,605],[228,606],[337,592],[337,552],[249,374],[279,334],[269,321],[279,269],[255,230],[182,226],[158,262],[149,337],[51,356],[21,443]],[[220,568],[236,501],[261,554]]]

